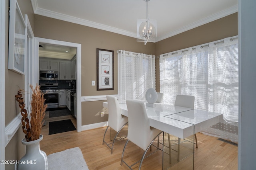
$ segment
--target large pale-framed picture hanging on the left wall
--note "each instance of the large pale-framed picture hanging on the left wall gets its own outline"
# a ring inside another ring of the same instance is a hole
[[[27,25],[17,0],[10,0],[8,69],[25,74]]]

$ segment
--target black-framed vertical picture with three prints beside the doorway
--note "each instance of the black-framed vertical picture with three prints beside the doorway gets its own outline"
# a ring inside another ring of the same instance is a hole
[[[97,90],[114,90],[114,51],[97,48]]]

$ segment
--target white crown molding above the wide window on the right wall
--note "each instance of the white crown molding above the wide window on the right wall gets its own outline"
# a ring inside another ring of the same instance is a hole
[[[172,31],[168,34],[160,36],[160,37],[157,38],[157,41],[161,41],[163,39],[166,39],[166,38],[172,37],[174,35],[177,35],[179,33],[188,31],[188,30],[193,29],[195,27],[199,27],[201,25],[212,22],[214,20],[218,20],[218,19],[223,18],[225,16],[228,16],[230,14],[234,14],[235,12],[238,12],[238,5],[232,6],[232,7],[228,8],[227,10],[220,11],[220,12],[218,12],[218,13],[212,15],[212,16],[203,18],[202,20],[198,20],[198,21],[196,21],[194,23],[191,23],[189,25],[186,25],[186,26],[184,26],[184,27],[182,27],[178,30],[175,30],[175,31]]]

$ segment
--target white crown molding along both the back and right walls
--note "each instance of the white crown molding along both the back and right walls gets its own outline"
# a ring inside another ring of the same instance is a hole
[[[31,0],[31,3],[32,3],[32,8],[34,10],[34,14],[46,16],[46,17],[49,17],[49,18],[55,18],[55,19],[58,19],[58,20],[68,21],[68,22],[72,22],[72,23],[77,23],[77,24],[80,24],[80,25],[85,25],[85,26],[93,27],[93,28],[97,28],[97,29],[102,29],[102,30],[105,30],[105,31],[110,31],[110,32],[113,32],[113,33],[118,33],[118,34],[126,35],[126,36],[129,36],[129,37],[134,37],[134,38],[137,37],[136,33],[132,33],[132,32],[129,32],[129,31],[126,31],[126,30],[123,30],[123,29],[118,29],[118,28],[115,28],[115,27],[110,27],[108,25],[104,25],[104,24],[100,24],[100,23],[96,23],[96,22],[92,22],[92,21],[88,21],[88,20],[83,20],[83,19],[80,19],[80,18],[68,16],[66,14],[61,14],[61,13],[53,12],[53,11],[50,11],[50,10],[45,10],[45,9],[42,9],[42,8],[38,8],[37,0]],[[206,17],[202,20],[199,20],[199,21],[196,21],[196,22],[191,23],[189,25],[186,25],[185,27],[182,27],[181,29],[178,29],[176,31],[172,31],[172,32],[170,32],[166,35],[161,36],[161,37],[157,37],[157,41],[161,41],[161,40],[166,39],[168,37],[172,37],[174,35],[177,35],[177,34],[182,33],[184,31],[188,31],[188,30],[193,29],[195,27],[198,27],[200,25],[204,25],[204,24],[209,23],[211,21],[218,20],[218,19],[220,19],[222,17],[225,17],[225,16],[228,16],[230,14],[234,14],[235,12],[238,12],[238,5],[233,6],[231,8],[228,8],[227,10],[220,11],[220,12],[218,12],[218,13],[212,15],[212,16]]]

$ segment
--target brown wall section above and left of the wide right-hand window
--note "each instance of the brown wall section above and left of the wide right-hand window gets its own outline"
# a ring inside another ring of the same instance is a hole
[[[238,35],[238,15],[231,14],[155,43],[156,56]],[[156,59],[156,91],[160,92],[159,59]]]

